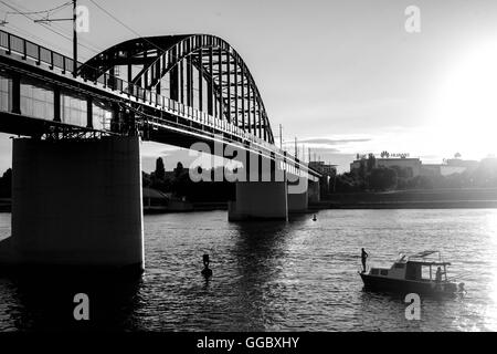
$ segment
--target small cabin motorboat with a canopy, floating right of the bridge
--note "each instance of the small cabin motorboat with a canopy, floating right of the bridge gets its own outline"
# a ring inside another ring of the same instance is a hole
[[[448,266],[440,251],[430,250],[411,256],[401,253],[392,267],[372,267],[359,274],[364,290],[432,295],[463,292],[464,283],[457,285],[447,278]]]

